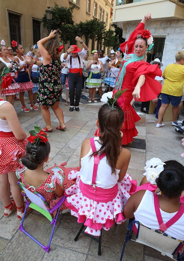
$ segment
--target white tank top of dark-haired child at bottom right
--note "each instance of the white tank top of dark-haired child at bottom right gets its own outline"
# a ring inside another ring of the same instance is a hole
[[[177,212],[167,213],[160,209],[162,220],[166,223],[170,220]],[[159,229],[158,220],[155,213],[153,193],[147,190],[137,208],[134,212],[135,220],[141,222],[144,226],[147,226],[151,229]],[[176,221],[172,226],[170,226],[165,233],[171,237],[184,240],[184,214],[181,218]]]

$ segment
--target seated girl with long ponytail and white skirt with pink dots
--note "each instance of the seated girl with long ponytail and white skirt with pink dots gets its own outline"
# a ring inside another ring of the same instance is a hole
[[[65,205],[91,235],[100,236],[102,228],[109,230],[114,222],[126,221],[123,206],[130,197],[132,178],[126,174],[131,153],[120,147],[123,120],[119,106],[100,108],[96,124],[101,136],[83,141],[81,169],[68,176],[76,183],[65,190]]]

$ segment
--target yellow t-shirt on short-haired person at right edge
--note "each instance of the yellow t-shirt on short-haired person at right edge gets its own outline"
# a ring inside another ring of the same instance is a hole
[[[184,84],[184,66],[181,64],[169,64],[162,76],[165,81],[162,86],[161,93],[182,96]]]

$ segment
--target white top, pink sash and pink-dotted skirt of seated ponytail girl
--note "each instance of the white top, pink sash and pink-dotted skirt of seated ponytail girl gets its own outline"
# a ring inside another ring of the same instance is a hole
[[[95,137],[94,141],[99,140]],[[101,147],[95,142],[97,149]],[[123,216],[123,206],[130,197],[131,176],[126,174],[118,182],[119,172],[112,174],[111,168],[104,156],[97,164],[94,178],[94,157],[90,157],[92,149],[81,159],[81,170],[71,171],[69,180],[76,179],[76,183],[65,190],[67,199],[65,204],[71,209],[71,214],[84,223],[85,233],[99,236],[100,231],[109,230],[114,223],[122,224],[126,221]]]

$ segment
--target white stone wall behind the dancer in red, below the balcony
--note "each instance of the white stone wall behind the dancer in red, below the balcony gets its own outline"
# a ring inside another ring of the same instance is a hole
[[[127,24],[126,40],[136,26],[137,23]],[[146,23],[145,29],[150,30],[153,37],[165,37],[162,56],[163,70],[168,64],[175,62],[176,52],[180,51],[184,46],[184,20],[152,21]]]

